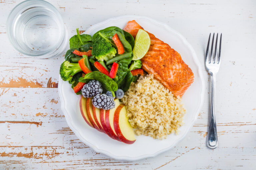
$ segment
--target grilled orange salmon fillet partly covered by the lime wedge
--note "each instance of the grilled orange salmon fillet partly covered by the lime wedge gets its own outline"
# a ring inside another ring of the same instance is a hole
[[[129,21],[124,31],[130,33],[135,39],[139,29],[143,29],[135,20]],[[143,29],[144,30],[144,29]],[[146,55],[141,59],[142,69],[160,81],[174,96],[180,96],[186,92],[194,82],[194,74],[188,65],[182,60],[180,54],[170,45],[159,40],[153,34],[147,32],[151,39],[150,47]]]

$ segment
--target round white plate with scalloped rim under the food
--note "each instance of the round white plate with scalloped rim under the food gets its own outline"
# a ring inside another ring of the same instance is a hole
[[[96,152],[122,160],[138,160],[153,157],[175,146],[186,136],[196,121],[204,96],[202,68],[194,49],[182,35],[166,24],[148,17],[121,16],[98,23],[89,28],[85,34],[93,35],[97,31],[110,26],[124,28],[126,23],[131,20],[136,20],[145,30],[154,34],[157,38],[177,50],[194,73],[195,81],[182,97],[182,102],[184,103],[187,113],[184,116],[185,125],[179,128],[180,132],[178,135],[170,134],[168,138],[164,140],[153,139],[152,137],[143,135],[136,136],[137,140],[131,145],[111,139],[108,135],[86,124],[78,106],[80,95],[75,95],[74,91],[71,89],[71,85],[68,82],[64,82],[60,77],[58,89],[61,109],[64,112],[69,127],[76,136]]]

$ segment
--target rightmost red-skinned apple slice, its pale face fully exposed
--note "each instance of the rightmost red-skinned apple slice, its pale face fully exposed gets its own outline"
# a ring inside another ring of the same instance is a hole
[[[117,107],[114,114],[114,128],[122,142],[132,144],[135,142],[136,138],[126,113],[127,112],[124,104]]]

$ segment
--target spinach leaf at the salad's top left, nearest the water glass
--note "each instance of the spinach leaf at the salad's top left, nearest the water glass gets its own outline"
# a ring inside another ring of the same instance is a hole
[[[78,33],[79,34],[79,33]],[[80,41],[80,39],[81,41]],[[80,48],[81,45],[84,45],[85,42],[90,42],[92,41],[92,36],[88,35],[88,34],[81,34],[81,35],[74,35],[73,37],[71,37],[69,39],[69,46],[70,49],[72,48]]]

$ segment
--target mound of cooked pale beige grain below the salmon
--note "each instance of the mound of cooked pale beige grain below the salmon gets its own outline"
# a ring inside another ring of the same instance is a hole
[[[137,135],[164,139],[170,133],[178,133],[183,125],[186,110],[181,99],[174,97],[154,76],[140,76],[132,83],[122,101],[127,116]]]

